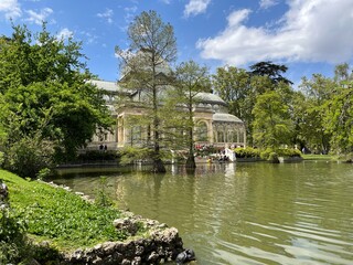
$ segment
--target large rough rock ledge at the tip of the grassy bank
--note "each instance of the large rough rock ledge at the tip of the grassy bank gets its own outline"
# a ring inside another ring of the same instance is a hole
[[[106,242],[88,250],[77,250],[64,256],[64,264],[160,264],[175,259],[183,251],[183,242],[175,227],[158,221],[129,214],[114,221],[117,230],[135,235],[133,241]],[[149,231],[138,236],[138,226]]]

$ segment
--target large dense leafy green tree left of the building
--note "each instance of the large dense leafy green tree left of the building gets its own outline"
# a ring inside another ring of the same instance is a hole
[[[56,161],[69,160],[98,126],[109,128],[110,113],[86,82],[92,75],[84,60],[81,43],[57,39],[45,23],[36,34],[13,26],[11,38],[0,38],[1,145],[8,151],[22,139],[45,140]]]

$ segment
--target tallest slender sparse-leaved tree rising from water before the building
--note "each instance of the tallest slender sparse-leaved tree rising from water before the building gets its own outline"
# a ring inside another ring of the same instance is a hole
[[[142,12],[128,28],[129,50],[116,46],[120,57],[121,84],[138,88],[140,100],[149,106],[153,146],[153,171],[165,172],[161,159],[162,121],[160,119],[163,89],[170,83],[168,64],[176,59],[176,40],[173,26],[164,23],[156,11]]]

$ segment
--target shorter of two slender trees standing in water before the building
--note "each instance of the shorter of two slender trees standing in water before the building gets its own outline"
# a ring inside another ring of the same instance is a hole
[[[201,92],[208,92],[211,87],[208,70],[202,67],[194,61],[181,63],[176,67],[175,72],[176,84],[175,88],[178,92],[178,105],[182,106],[181,110],[184,112],[186,108],[186,119],[184,123],[184,129],[188,131],[186,145],[189,147],[189,156],[186,159],[188,168],[195,168],[194,158],[194,107],[197,104],[197,96]]]

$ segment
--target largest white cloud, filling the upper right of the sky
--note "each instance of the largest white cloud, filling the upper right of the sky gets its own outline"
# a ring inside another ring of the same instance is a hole
[[[352,0],[292,0],[276,30],[248,26],[249,10],[227,18],[215,38],[199,40],[204,59],[232,65],[259,61],[346,62],[353,56]]]

